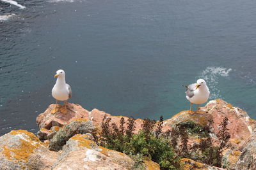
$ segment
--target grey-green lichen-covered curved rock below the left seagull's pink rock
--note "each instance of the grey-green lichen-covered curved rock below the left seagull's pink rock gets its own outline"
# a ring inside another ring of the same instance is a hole
[[[49,148],[54,151],[61,150],[66,141],[75,134],[86,134],[94,129],[92,121],[79,118],[60,128],[58,132],[50,139]]]

